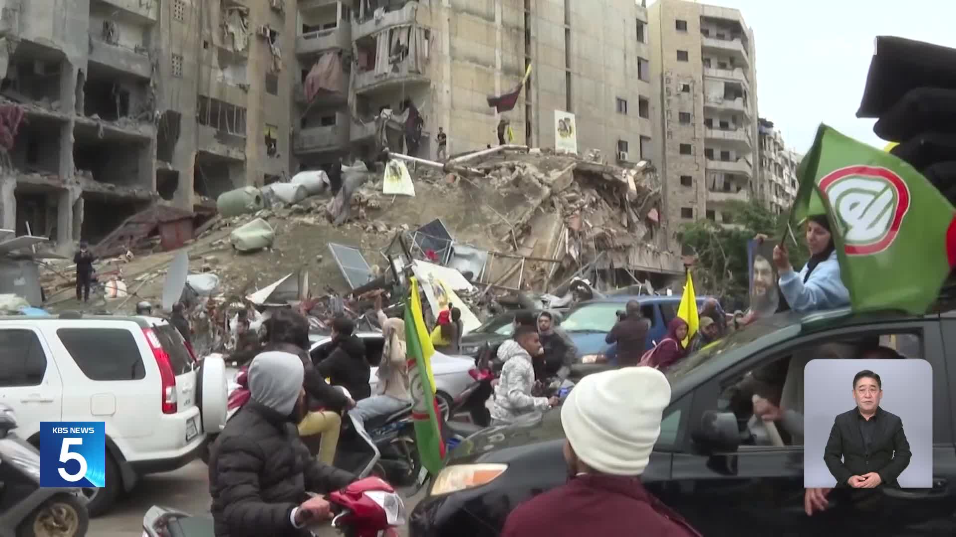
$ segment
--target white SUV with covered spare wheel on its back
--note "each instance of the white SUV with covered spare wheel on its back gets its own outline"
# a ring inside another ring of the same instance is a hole
[[[106,486],[84,489],[96,516],[139,476],[196,458],[206,431],[225,423],[226,376],[221,359],[199,367],[158,317],[8,316],[0,317],[0,402],[37,446],[40,421],[106,423]]]

